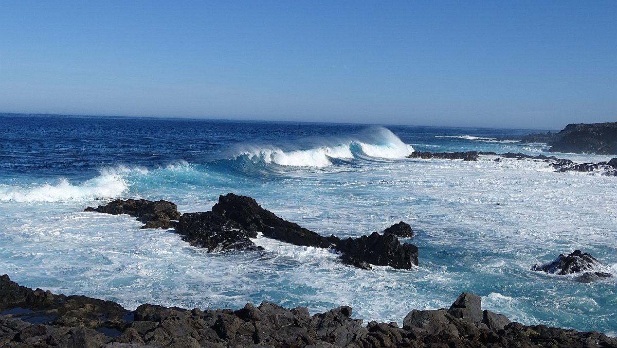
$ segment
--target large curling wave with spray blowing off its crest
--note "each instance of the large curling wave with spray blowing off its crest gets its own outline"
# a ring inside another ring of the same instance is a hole
[[[325,167],[332,159],[354,158],[404,158],[413,152],[399,137],[384,127],[366,130],[362,135],[342,141],[325,141],[326,144],[305,150],[282,150],[276,146],[252,146],[241,151],[239,157],[249,158],[254,163],[278,164],[293,167]]]

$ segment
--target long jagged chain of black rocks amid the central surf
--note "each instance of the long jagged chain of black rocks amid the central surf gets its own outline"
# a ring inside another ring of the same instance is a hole
[[[362,236],[356,239],[323,237],[316,232],[279,218],[263,209],[254,198],[228,193],[218,198],[212,211],[181,215],[172,202],[160,200],[115,200],[86,211],[108,214],[130,214],[146,223],[142,228],[175,226],[175,231],[191,245],[207,248],[209,252],[233,249],[263,250],[250,238],[263,236],[305,247],[333,248],[342,253],[347,265],[370,269],[370,265],[411,269],[418,265],[418,248],[409,243],[400,244],[394,235]],[[172,219],[178,218],[178,222]],[[409,227],[411,230],[411,227]],[[413,233],[413,231],[412,231]]]

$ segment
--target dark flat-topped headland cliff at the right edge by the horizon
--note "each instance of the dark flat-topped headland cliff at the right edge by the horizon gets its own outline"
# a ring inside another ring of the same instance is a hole
[[[617,122],[568,124],[560,134],[550,152],[617,155]]]

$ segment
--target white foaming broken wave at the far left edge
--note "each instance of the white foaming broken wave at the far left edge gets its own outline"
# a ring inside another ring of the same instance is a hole
[[[141,172],[146,169],[118,167],[102,169],[101,175],[88,179],[79,185],[72,185],[61,178],[56,185],[0,185],[0,201],[16,202],[65,202],[70,200],[106,200],[125,192],[129,185],[122,175],[126,172]]]

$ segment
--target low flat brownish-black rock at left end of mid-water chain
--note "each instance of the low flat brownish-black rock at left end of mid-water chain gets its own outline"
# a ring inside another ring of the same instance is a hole
[[[132,215],[144,223],[141,228],[169,229],[176,225],[176,220],[181,216],[181,213],[178,212],[178,206],[166,200],[156,202],[133,199],[115,200],[107,205],[99,205],[97,208],[88,206],[84,211]]]

